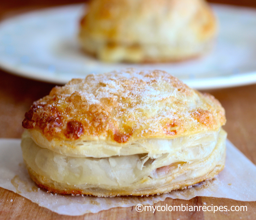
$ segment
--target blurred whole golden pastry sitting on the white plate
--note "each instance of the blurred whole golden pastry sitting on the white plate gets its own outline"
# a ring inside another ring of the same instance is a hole
[[[82,48],[107,62],[169,62],[211,49],[216,19],[205,0],[91,0]]]

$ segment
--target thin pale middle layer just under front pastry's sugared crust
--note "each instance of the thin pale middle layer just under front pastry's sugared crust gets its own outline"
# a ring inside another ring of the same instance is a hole
[[[150,157],[157,158],[157,155],[172,154],[182,149],[200,147],[204,151],[211,151],[218,139],[218,131],[207,131],[175,139],[139,139],[126,144],[106,141],[74,140],[63,139],[48,140],[37,130],[26,130],[23,138],[31,138],[36,145],[47,148],[56,153],[73,157],[94,157],[106,158],[111,156],[128,156],[147,153]]]

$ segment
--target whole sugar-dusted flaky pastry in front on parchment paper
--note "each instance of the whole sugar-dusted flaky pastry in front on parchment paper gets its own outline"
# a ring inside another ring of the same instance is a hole
[[[224,168],[221,104],[160,70],[54,87],[26,113],[23,159],[41,187],[95,196],[160,194]]]

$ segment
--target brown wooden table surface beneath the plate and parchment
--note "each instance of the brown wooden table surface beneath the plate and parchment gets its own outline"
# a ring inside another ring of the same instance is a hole
[[[79,1],[76,1],[79,2]],[[81,0],[80,0],[81,2]],[[256,6],[255,0],[212,0],[218,3],[233,3],[236,5]],[[74,3],[71,0],[9,0],[1,3],[0,17],[10,16],[17,12],[29,9],[53,6],[58,4]],[[23,128],[21,122],[24,113],[29,109],[32,101],[49,93],[54,84],[33,81],[11,75],[0,70],[0,138],[20,138]],[[244,87],[209,90],[218,98],[226,109],[227,124],[224,129],[228,133],[228,139],[256,164],[256,85]],[[252,183],[253,184],[253,183]],[[256,184],[256,183],[254,183]],[[250,188],[248,188],[250,190]],[[253,192],[255,193],[255,192]],[[13,200],[12,202],[10,200]],[[100,211],[96,214],[84,214],[70,217],[56,214],[47,208],[38,206],[22,196],[0,188],[0,219],[170,219],[170,220],[226,220],[226,219],[256,219],[256,202],[240,202],[230,199],[211,197],[196,197],[192,200],[166,199],[159,202],[158,206],[198,205],[213,204],[214,206],[247,206],[247,211],[221,212],[209,211],[175,211],[140,212],[135,207],[112,208]]]

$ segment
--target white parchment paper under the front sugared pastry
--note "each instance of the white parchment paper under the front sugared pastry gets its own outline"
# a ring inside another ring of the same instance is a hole
[[[64,196],[47,193],[30,179],[23,164],[20,139],[0,139],[0,187],[14,191],[58,214],[67,215],[96,213],[113,207],[131,207],[137,204],[153,205],[167,197],[189,200],[196,196],[204,196],[256,201],[256,166],[227,141],[224,170],[213,180],[192,188],[149,197]]]

